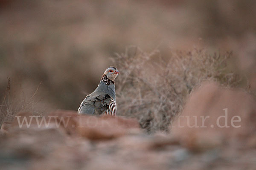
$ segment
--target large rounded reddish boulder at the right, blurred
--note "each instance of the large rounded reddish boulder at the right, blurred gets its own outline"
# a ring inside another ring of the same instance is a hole
[[[255,103],[254,96],[242,90],[204,82],[192,92],[172,133],[191,149],[212,147],[233,137],[247,138],[256,134]],[[232,120],[238,122],[232,124]]]

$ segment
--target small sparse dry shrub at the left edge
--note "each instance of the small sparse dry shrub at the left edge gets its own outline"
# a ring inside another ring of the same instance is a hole
[[[35,90],[34,94],[30,96],[29,99],[26,99],[24,92],[20,96],[17,95],[18,93],[11,88],[10,79],[7,79],[8,82],[6,92],[0,105],[0,127],[2,126],[3,122],[11,122],[14,119],[15,114],[21,111],[30,111],[34,115],[41,115],[41,113],[38,113],[34,109],[35,105],[43,99],[35,99],[35,95],[37,94],[41,83],[38,85],[38,88]],[[12,97],[10,95],[11,93],[14,93],[15,97]]]

